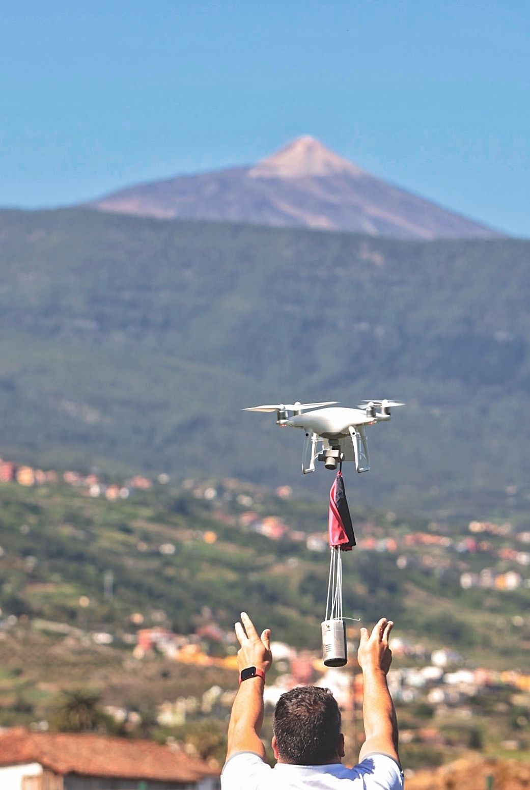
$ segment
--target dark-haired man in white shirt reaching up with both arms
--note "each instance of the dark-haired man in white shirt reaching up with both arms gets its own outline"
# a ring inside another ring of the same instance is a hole
[[[379,620],[371,634],[361,629],[359,665],[363,670],[363,722],[366,740],[359,763],[346,768],[340,711],[327,689],[299,687],[282,694],[273,720],[276,766],[264,762],[265,675],[273,663],[270,630],[261,636],[246,612],[235,624],[239,690],[228,725],[227,762],[222,790],[401,790],[397,721],[386,675],[392,661],[389,634],[393,623]]]

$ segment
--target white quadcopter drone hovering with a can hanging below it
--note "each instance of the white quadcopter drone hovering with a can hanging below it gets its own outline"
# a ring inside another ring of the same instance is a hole
[[[324,461],[326,469],[336,469],[342,461],[355,461],[357,472],[370,470],[365,427],[390,419],[395,401],[363,401],[356,408],[321,408],[335,406],[338,401],[325,403],[293,403],[275,406],[253,406],[245,412],[276,412],[276,425],[302,428],[306,432],[303,444],[302,471],[314,472],[314,462]],[[306,409],[317,411],[306,412]],[[288,412],[293,412],[289,416]],[[303,413],[305,412],[305,413]]]

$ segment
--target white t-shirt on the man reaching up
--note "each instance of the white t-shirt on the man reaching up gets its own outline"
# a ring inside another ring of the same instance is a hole
[[[369,754],[353,768],[330,766],[274,768],[254,752],[234,754],[221,773],[221,790],[402,790],[403,774],[387,754]]]

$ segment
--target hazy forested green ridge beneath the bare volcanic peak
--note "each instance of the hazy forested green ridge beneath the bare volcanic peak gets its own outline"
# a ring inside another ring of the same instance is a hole
[[[502,509],[515,486],[523,506],[529,254],[514,239],[3,211],[0,450],[321,494],[329,475],[299,472],[301,432],[241,409],[395,397],[407,407],[370,431],[354,496],[449,515]]]

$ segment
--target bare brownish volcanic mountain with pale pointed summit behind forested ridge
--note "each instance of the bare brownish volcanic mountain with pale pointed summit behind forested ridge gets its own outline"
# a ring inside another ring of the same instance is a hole
[[[130,186],[91,205],[137,216],[302,226],[409,239],[499,235],[374,178],[308,135],[253,167]]]

